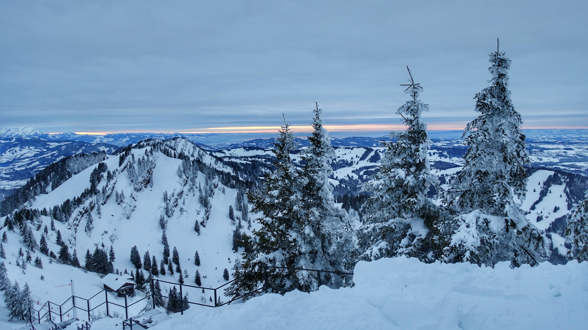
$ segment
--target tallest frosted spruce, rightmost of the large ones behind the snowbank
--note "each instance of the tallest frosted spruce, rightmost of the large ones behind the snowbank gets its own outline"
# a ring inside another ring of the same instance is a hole
[[[465,166],[451,182],[445,203],[456,217],[445,260],[494,265],[499,261],[535,265],[549,256],[547,239],[520,210],[530,163],[523,120],[510,100],[510,59],[499,48],[490,54],[491,86],[477,93],[476,119],[463,132],[469,147]]]

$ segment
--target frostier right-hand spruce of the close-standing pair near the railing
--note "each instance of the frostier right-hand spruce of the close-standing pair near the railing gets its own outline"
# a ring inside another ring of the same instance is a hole
[[[302,160],[306,161],[298,181],[302,186],[303,198],[300,208],[303,214],[299,229],[298,244],[305,257],[299,267],[319,270],[345,271],[353,267],[351,255],[355,250],[351,234],[352,225],[345,210],[335,206],[333,186],[329,177],[335,159],[335,150],[330,145],[329,133],[323,126],[322,109],[318,103],[313,110],[313,133],[308,137],[310,147],[305,149]],[[312,274],[309,274],[312,275]],[[306,277],[305,275],[301,275]],[[341,278],[323,274],[322,283],[341,285]],[[309,283],[310,279],[305,279]],[[312,287],[317,284],[310,280]]]

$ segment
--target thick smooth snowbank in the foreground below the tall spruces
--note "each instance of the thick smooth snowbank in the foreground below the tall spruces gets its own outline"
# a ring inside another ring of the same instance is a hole
[[[164,329],[586,329],[588,262],[531,268],[423,264],[415,258],[359,262],[355,287],[244,304],[192,307],[154,326]],[[116,324],[116,326],[115,326]],[[92,330],[121,328],[115,319]]]

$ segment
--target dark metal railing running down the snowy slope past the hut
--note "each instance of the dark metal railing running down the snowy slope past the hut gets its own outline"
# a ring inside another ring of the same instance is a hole
[[[259,293],[259,292],[267,293],[269,289],[271,289],[272,292],[276,291],[279,293],[292,291],[293,289],[295,289],[295,288],[275,287],[273,284],[269,283],[268,282],[269,268],[285,269],[285,270],[289,270],[289,271],[316,272],[316,277],[317,277],[319,287],[320,287],[320,285],[323,284],[322,283],[322,281],[323,281],[322,274],[335,274],[335,275],[342,277],[342,278],[346,278],[349,275],[350,276],[353,275],[352,272],[312,270],[312,269],[306,269],[306,268],[291,268],[291,267],[279,267],[279,266],[266,265],[266,266],[263,266],[263,285],[262,285],[262,287],[256,288],[253,291],[250,291],[246,294],[239,295],[237,297],[233,297],[232,299],[230,299],[229,301],[226,301],[226,302],[219,301],[218,298],[220,297],[220,295],[218,294],[218,290],[223,289],[224,287],[226,287],[226,285],[229,285],[236,280],[239,280],[239,278],[235,278],[231,281],[228,281],[225,284],[220,285],[220,287],[218,287],[218,288],[207,288],[207,287],[201,287],[198,285],[180,284],[177,282],[168,282],[168,281],[163,281],[163,280],[158,280],[156,278],[153,278],[151,280],[151,283],[149,283],[149,285],[151,287],[151,293],[149,295],[146,295],[145,297],[139,299],[138,301],[133,301],[132,304],[128,303],[128,299],[127,299],[126,295],[124,295],[125,305],[117,304],[116,302],[113,302],[112,300],[109,301],[108,300],[108,291],[106,291],[106,289],[102,289],[97,294],[95,294],[92,297],[87,298],[87,299],[82,298],[82,297],[78,297],[76,295],[72,295],[72,297],[69,297],[65,302],[63,302],[63,304],[55,304],[54,302],[47,301],[39,309],[30,308],[29,309],[29,316],[30,316],[29,321],[31,322],[33,329],[34,329],[35,323],[40,324],[42,321],[45,321],[47,319],[55,322],[56,318],[58,317],[59,322],[63,322],[64,316],[68,317],[68,319],[71,318],[71,317],[69,317],[69,314],[73,314],[72,312],[74,311],[74,309],[76,311],[84,312],[84,315],[86,315],[86,313],[87,313],[87,315],[88,315],[87,321],[90,321],[91,317],[92,317],[91,316],[92,311],[94,311],[96,308],[101,307],[102,305],[105,305],[106,315],[110,315],[110,308],[112,305],[114,305],[117,307],[124,308],[125,309],[125,319],[130,319],[129,318],[129,307],[132,307],[133,305],[135,305],[138,302],[141,302],[145,299],[154,298],[153,292],[155,292],[155,281],[179,286],[179,292],[178,292],[179,293],[179,301],[180,301],[179,312],[182,315],[183,315],[183,312],[185,311],[185,307],[183,304],[183,302],[184,302],[183,298],[185,297],[184,293],[187,293],[186,289],[200,289],[200,290],[202,290],[202,293],[204,293],[204,294],[206,294],[206,292],[209,292],[209,295],[210,295],[209,301],[206,301],[206,299],[201,299],[200,302],[189,301],[189,299],[187,299],[185,301],[185,302],[188,302],[188,304],[205,306],[205,307],[220,307],[223,305],[230,304],[231,302],[236,301],[238,299],[245,298],[250,295]],[[347,281],[344,281],[344,282],[349,283]],[[102,293],[103,293],[103,295],[102,295]],[[205,298],[205,295],[203,295],[202,297]],[[212,297],[214,297],[214,300],[212,300]],[[169,296],[162,294],[161,298],[169,299]],[[91,301],[92,301],[92,304],[90,304]],[[70,305],[68,303],[71,303],[71,307],[69,307]],[[157,307],[156,306],[156,299],[151,299],[151,303],[153,304],[153,308]],[[91,305],[93,306],[92,308],[90,307]],[[73,315],[72,315],[72,317],[73,317]]]

